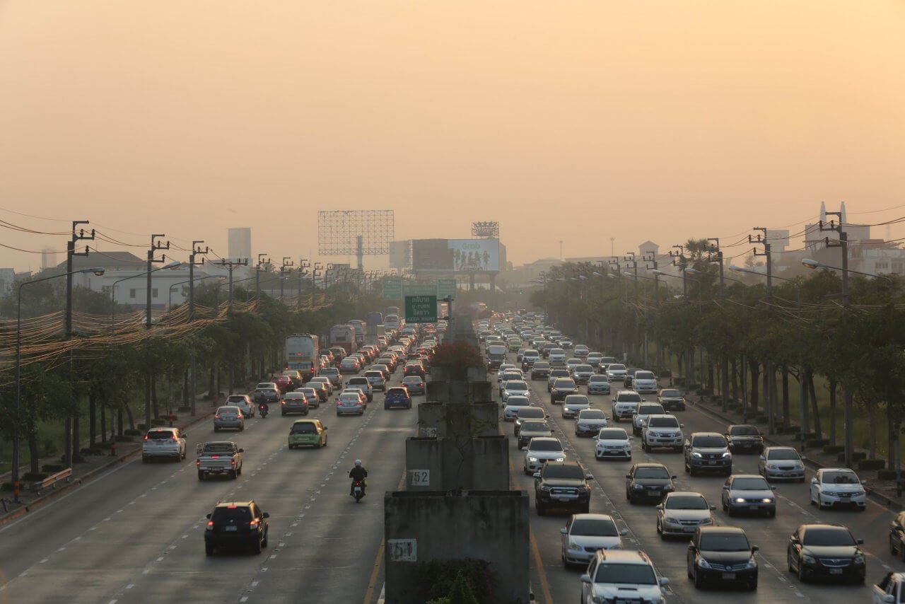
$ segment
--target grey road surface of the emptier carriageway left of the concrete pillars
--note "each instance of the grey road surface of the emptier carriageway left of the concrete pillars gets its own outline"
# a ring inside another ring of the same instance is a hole
[[[364,417],[336,417],[332,402],[312,410],[329,428],[322,449],[287,448],[297,416],[255,417],[234,433],[205,423],[189,430],[186,461],[131,461],[7,524],[0,602],[376,601],[383,494],[400,482],[417,417],[382,400]],[[195,444],[226,439],[244,448],[243,475],[199,482]],[[361,503],[348,495],[356,458],[369,472]],[[243,499],[270,513],[269,547],[205,557],[205,514]]]

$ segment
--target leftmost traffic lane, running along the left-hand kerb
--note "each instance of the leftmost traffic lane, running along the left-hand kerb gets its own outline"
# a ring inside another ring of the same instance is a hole
[[[186,430],[189,439],[187,460],[192,458],[195,439],[203,439],[201,435],[210,429],[210,424],[205,423]],[[251,433],[252,430],[248,434]],[[105,518],[167,479],[175,468],[181,469],[189,463],[154,461],[141,464],[138,458],[132,459],[21,520],[7,524],[0,529],[0,586],[47,559],[59,548],[65,548],[83,536],[87,527],[104,522]],[[23,547],[24,543],[28,547]]]

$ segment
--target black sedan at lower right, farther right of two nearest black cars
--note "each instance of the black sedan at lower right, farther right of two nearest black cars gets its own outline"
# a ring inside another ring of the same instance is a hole
[[[867,562],[858,547],[863,542],[842,524],[802,524],[789,538],[789,572],[797,572],[802,582],[820,577],[863,583]]]

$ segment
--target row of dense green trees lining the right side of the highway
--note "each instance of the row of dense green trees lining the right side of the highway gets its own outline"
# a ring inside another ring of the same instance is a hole
[[[767,295],[763,277],[727,270],[721,295],[719,268],[707,251],[704,240],[685,245],[693,269],[685,275],[687,297],[683,283],[668,275],[635,281],[623,273],[607,276],[595,265],[562,264],[532,302],[570,335],[625,352],[661,375],[678,369],[678,381],[702,393],[717,394],[719,384],[728,384],[719,392],[724,406],[744,400],[751,417],[767,415],[778,430],[805,426],[815,438],[825,433],[834,448],[843,430],[838,393],[849,388],[867,419],[868,455],[876,456],[882,427],[885,441],[897,442],[905,412],[901,279],[853,277],[850,303],[843,305],[838,273],[777,281]],[[818,404],[824,384],[828,409]],[[805,401],[800,407],[791,402],[795,385]],[[822,407],[829,417],[822,417]],[[897,467],[893,446],[887,454],[890,467]]]

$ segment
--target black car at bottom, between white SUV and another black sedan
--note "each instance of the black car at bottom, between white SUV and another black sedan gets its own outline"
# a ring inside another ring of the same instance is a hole
[[[688,545],[686,566],[698,589],[707,583],[734,583],[757,590],[757,545],[735,526],[699,526]]]

